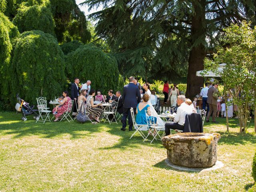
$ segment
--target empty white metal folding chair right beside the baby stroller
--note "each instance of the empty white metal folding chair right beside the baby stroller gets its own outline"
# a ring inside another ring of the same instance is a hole
[[[37,101],[37,108],[38,108],[38,113],[39,113],[39,118],[36,119],[36,123],[38,121],[41,121],[41,122],[44,122],[44,123],[46,121],[51,121],[50,120],[50,113],[52,111],[48,110],[50,108],[47,107],[47,100],[46,100],[46,98],[45,97],[39,97],[39,98],[36,98],[36,101]]]

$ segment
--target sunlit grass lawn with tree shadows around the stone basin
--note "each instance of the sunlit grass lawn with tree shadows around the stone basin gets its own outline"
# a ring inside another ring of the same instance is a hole
[[[218,160],[224,167],[185,172],[166,166],[161,142],[142,142],[121,124],[35,123],[0,112],[0,191],[255,191],[251,176],[256,151],[253,122],[239,134],[237,119],[206,123],[219,132]]]

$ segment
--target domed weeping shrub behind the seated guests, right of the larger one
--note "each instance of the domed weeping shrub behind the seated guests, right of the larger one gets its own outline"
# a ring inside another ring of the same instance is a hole
[[[106,93],[118,87],[118,66],[114,57],[100,49],[84,45],[66,56],[67,74],[70,81],[79,77],[80,82],[91,80],[91,87]]]

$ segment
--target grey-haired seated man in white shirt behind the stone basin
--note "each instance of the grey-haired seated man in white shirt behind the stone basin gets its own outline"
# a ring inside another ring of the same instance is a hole
[[[170,135],[170,129],[173,130],[183,130],[186,114],[192,113],[192,108],[185,103],[186,97],[184,95],[179,95],[177,98],[177,104],[179,105],[177,109],[177,114],[174,118],[174,122],[165,124],[165,135]]]

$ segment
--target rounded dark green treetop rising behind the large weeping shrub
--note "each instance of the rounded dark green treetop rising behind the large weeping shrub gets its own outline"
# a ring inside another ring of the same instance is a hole
[[[52,12],[45,5],[21,6],[13,19],[19,31],[41,30],[54,34],[54,20]]]

